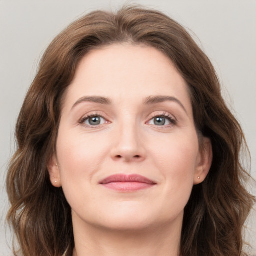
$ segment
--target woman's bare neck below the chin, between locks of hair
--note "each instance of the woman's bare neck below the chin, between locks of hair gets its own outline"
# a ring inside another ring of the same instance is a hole
[[[181,221],[143,230],[111,230],[73,223],[73,256],[178,256]]]

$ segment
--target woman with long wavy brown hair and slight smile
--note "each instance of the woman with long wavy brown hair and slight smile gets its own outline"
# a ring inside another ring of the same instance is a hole
[[[49,45],[7,176],[23,255],[242,255],[242,130],[178,23],[92,12]]]

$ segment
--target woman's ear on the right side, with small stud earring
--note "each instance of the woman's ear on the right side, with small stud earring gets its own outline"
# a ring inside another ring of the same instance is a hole
[[[212,162],[211,141],[207,137],[202,138],[202,145],[199,151],[197,165],[194,173],[194,184],[201,183],[207,176]]]

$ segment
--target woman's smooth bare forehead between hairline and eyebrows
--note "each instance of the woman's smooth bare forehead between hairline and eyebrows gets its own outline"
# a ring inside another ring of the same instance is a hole
[[[108,45],[91,50],[81,59],[63,107],[82,96],[95,95],[123,102],[168,95],[191,107],[186,82],[170,59],[144,45]]]

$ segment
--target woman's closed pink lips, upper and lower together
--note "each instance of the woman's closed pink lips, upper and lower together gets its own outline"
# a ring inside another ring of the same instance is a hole
[[[136,191],[154,186],[156,183],[144,176],[116,174],[102,179],[99,184],[117,191]]]

